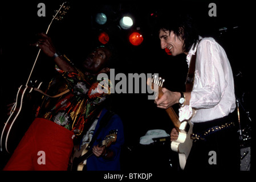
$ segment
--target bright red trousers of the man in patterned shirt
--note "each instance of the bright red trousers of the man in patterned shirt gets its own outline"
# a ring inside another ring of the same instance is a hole
[[[36,118],[19,142],[5,171],[65,171],[72,152],[74,132]]]

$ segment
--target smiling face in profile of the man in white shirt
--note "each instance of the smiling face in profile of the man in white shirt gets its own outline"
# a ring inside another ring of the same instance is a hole
[[[161,48],[169,49],[170,53],[172,53],[173,56],[177,56],[181,53],[184,53],[182,51],[184,41],[182,39],[178,38],[173,33],[173,31],[169,32],[169,30],[160,30],[159,38],[161,40]]]

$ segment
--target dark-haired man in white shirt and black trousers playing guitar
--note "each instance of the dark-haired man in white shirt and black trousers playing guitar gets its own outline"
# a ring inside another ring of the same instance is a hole
[[[179,104],[181,122],[189,120],[196,110],[191,119],[193,146],[185,170],[238,171],[238,136],[231,117],[235,110],[234,81],[224,49],[213,38],[198,35],[189,15],[163,16],[159,38],[162,49],[169,50],[172,56],[185,54],[188,66],[195,67],[192,91],[172,92],[163,88],[164,95],[155,100],[162,109]],[[193,56],[196,61],[192,63]],[[177,138],[178,132],[173,128],[170,139]],[[214,162],[209,162],[211,151],[216,152]]]

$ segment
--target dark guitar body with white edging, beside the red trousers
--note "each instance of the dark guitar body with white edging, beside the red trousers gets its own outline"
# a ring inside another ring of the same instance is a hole
[[[38,89],[40,87],[38,85]],[[26,118],[19,118],[21,115],[21,110],[23,106],[23,101],[25,100],[27,94],[31,93],[33,88],[29,86],[21,85],[19,87],[16,102],[11,109],[11,114],[7,119],[5,126],[3,127],[1,134],[1,151],[7,151],[8,153],[12,153],[17,147],[19,141],[23,137],[23,134],[26,132],[26,129],[29,127],[30,123],[26,123]]]

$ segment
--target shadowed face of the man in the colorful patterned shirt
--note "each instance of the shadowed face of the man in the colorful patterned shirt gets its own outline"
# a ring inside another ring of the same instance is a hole
[[[110,52],[107,48],[99,47],[92,51],[83,61],[83,68],[92,75],[104,72],[105,63],[109,59]]]

